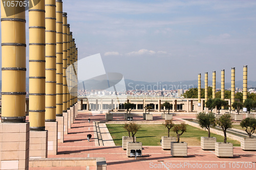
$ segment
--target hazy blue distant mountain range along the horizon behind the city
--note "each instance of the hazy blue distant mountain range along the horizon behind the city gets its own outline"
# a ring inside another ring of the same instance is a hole
[[[201,87],[204,88],[204,80],[201,81]],[[0,80],[0,88],[2,89],[2,80]],[[109,82],[112,86],[113,84],[118,83],[118,81]],[[85,83],[86,89],[106,89],[108,85],[104,80],[89,80]],[[133,81],[129,79],[125,79],[126,90],[177,90],[177,89],[189,89],[189,88],[197,88],[198,81],[179,81],[179,82],[143,82],[143,81]],[[212,85],[212,81],[208,81],[208,86]],[[82,83],[79,84],[82,86]],[[236,87],[243,88],[243,81],[236,81]],[[248,88],[256,87],[256,81],[248,81]],[[221,88],[221,83],[216,82],[216,88]],[[230,82],[225,83],[225,89],[231,88]],[[29,90],[29,78],[26,78],[26,91]]]

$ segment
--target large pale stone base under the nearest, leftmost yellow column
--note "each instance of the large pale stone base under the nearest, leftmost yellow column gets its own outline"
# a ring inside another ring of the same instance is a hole
[[[29,169],[29,123],[0,124],[0,169]]]

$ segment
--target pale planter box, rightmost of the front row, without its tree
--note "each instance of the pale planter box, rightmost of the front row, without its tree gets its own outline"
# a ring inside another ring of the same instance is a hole
[[[215,142],[215,155],[218,157],[233,157],[233,143]]]

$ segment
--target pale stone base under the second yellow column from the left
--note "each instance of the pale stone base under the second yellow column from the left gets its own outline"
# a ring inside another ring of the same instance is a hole
[[[47,158],[48,131],[30,131],[29,157]]]

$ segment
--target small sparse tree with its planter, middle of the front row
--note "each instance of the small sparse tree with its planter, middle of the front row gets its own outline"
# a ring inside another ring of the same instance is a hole
[[[170,143],[170,154],[173,156],[187,156],[187,143],[180,143],[180,136],[186,132],[187,125],[184,123],[174,125],[173,131],[177,134],[177,142]],[[180,132],[180,133],[179,133]]]

